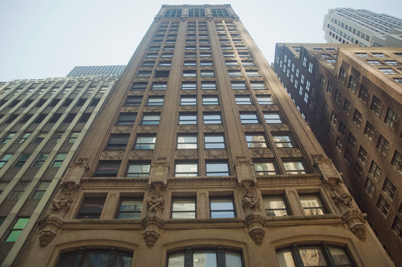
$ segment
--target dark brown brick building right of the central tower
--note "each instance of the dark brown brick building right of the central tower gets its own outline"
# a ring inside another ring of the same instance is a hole
[[[274,69],[402,266],[402,48],[276,44]]]

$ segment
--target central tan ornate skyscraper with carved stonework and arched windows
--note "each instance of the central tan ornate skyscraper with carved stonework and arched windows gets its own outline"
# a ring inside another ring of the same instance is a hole
[[[392,266],[230,5],[162,6],[7,264],[33,262]]]

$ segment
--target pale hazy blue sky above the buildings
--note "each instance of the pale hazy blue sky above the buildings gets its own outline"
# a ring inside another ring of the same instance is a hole
[[[64,77],[74,66],[126,65],[160,0],[0,0],[0,82]],[[232,0],[258,47],[273,61],[276,43],[325,43],[328,9],[366,9],[402,18],[400,0]]]

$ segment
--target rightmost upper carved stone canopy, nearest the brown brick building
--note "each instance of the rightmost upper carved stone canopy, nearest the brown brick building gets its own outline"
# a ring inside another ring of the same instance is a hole
[[[325,157],[323,154],[312,154],[312,156],[314,158],[314,166],[323,175],[325,184],[335,186],[338,183],[344,182],[331,159]]]

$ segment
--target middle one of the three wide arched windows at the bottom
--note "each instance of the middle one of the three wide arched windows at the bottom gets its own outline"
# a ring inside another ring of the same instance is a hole
[[[238,251],[218,248],[196,249],[168,255],[167,267],[243,267],[242,254]]]

